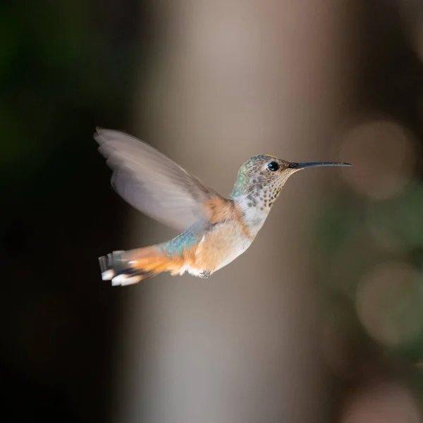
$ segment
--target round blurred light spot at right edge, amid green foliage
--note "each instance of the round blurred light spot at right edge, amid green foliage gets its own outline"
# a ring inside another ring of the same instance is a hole
[[[412,341],[423,329],[422,274],[403,262],[379,264],[360,281],[356,307],[376,341],[387,345]]]

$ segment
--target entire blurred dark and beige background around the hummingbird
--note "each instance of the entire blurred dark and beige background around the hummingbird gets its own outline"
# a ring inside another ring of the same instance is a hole
[[[421,0],[0,6],[7,422],[421,422]],[[112,288],[97,257],[175,235],[125,204],[96,125],[222,195],[290,178],[212,278]]]

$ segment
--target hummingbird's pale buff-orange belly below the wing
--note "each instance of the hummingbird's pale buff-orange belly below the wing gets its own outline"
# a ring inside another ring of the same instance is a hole
[[[245,234],[245,229],[233,221],[219,223],[212,231],[204,233],[195,251],[195,268],[192,271],[213,273],[233,262],[250,247],[254,238]],[[188,269],[190,273],[193,273]]]

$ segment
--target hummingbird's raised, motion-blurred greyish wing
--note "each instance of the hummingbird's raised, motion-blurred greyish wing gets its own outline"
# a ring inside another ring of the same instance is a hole
[[[204,217],[204,202],[219,197],[150,145],[117,130],[97,128],[94,140],[114,171],[111,185],[135,209],[178,231]]]

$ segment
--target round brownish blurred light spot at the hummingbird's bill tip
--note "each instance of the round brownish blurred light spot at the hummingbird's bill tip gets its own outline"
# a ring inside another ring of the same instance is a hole
[[[353,168],[341,169],[361,195],[386,199],[398,195],[415,173],[415,140],[391,121],[356,125],[341,142],[341,157]]]

